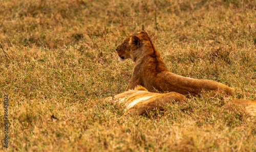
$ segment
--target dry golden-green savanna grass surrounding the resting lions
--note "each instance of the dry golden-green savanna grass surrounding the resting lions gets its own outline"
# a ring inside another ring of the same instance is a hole
[[[255,100],[255,1],[0,2],[0,42],[10,57],[0,50],[1,139],[9,96],[9,147],[1,140],[0,150],[256,150],[256,118],[224,110],[221,95],[127,118],[123,106],[100,100],[125,91],[133,62],[120,63],[115,48],[141,30],[171,72]]]

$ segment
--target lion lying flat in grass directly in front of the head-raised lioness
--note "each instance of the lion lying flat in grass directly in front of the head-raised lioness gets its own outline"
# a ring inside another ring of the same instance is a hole
[[[163,110],[163,104],[181,103],[187,101],[187,98],[175,92],[166,94],[152,93],[142,86],[137,86],[134,90],[120,93],[115,95],[114,98],[108,97],[105,101],[124,104],[124,115],[141,115],[154,109]]]

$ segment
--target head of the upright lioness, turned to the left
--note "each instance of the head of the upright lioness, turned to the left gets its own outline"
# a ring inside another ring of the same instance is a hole
[[[145,31],[141,31],[137,34],[126,37],[124,41],[116,48],[119,61],[123,62],[125,59],[130,58],[135,62],[136,59],[141,56],[145,50],[144,48],[150,41],[151,40]],[[150,42],[148,45],[152,46],[152,44],[153,42]]]

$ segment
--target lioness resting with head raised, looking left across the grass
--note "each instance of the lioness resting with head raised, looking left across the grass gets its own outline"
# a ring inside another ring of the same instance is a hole
[[[141,85],[149,92],[157,90],[177,92],[183,95],[198,95],[203,91],[213,91],[228,96],[234,95],[234,89],[222,83],[183,77],[169,72],[153,41],[145,31],[125,38],[116,51],[120,61],[131,58],[135,62],[133,76],[126,91]]]

